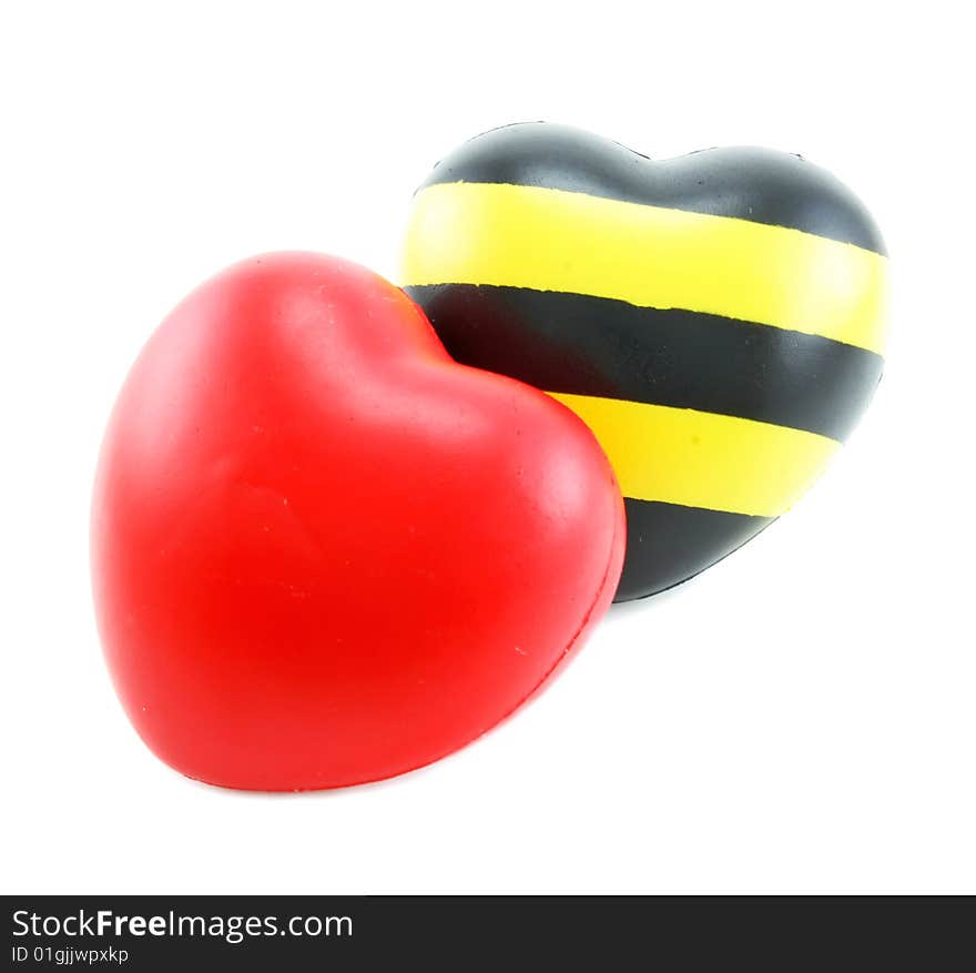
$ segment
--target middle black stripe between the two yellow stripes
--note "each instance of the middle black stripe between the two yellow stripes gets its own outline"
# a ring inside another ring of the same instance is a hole
[[[474,284],[407,287],[451,356],[547,392],[695,408],[843,439],[883,359],[692,311]]]

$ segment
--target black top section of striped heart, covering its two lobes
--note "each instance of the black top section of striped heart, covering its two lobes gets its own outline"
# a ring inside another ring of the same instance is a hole
[[[749,146],[660,162],[579,129],[533,122],[466,142],[424,185],[496,182],[545,186],[654,206],[789,226],[885,253],[864,204],[799,155]]]

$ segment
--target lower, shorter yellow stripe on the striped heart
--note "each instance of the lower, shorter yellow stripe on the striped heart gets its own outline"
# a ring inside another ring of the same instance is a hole
[[[777,517],[840,443],[770,423],[690,408],[549,393],[600,440],[626,497]]]

